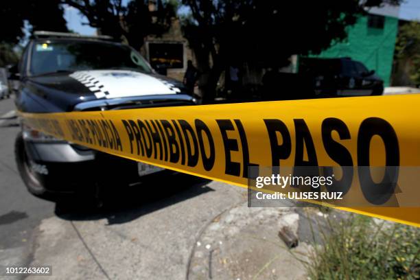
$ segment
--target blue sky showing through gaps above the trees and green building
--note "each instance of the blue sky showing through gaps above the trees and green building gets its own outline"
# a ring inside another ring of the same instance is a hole
[[[123,2],[127,2],[124,0]],[[420,0],[405,0],[399,9],[399,18],[406,20],[419,20],[420,21]],[[86,17],[80,15],[80,12],[75,8],[69,6],[65,7],[65,19],[69,29],[84,35],[94,35],[95,28],[89,25],[82,25],[87,23]]]

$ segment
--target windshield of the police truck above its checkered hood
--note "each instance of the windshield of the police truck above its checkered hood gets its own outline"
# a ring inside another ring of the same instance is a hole
[[[93,69],[129,69],[152,72],[141,55],[125,45],[95,41],[45,40],[33,44],[30,74]]]

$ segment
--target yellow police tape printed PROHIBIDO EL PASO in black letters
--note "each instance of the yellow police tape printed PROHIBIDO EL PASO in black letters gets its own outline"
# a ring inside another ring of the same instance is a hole
[[[420,95],[394,95],[21,116],[95,150],[247,187],[250,165],[419,167],[419,110]],[[409,177],[396,197],[420,202]],[[338,208],[420,226],[418,206]]]

